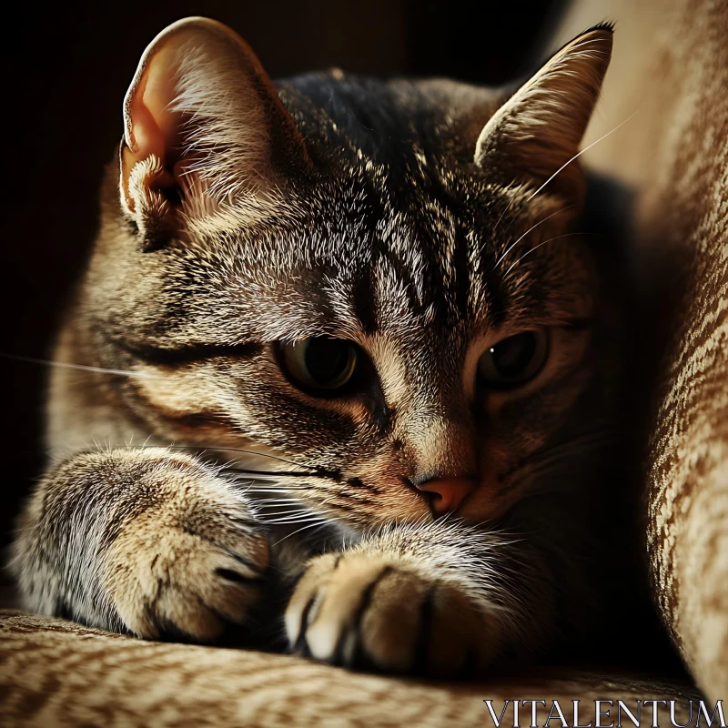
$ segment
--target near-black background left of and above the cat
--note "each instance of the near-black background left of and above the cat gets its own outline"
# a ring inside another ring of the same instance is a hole
[[[531,70],[563,0],[268,0],[35,4],[3,30],[0,352],[48,358],[96,227],[96,188],[121,102],[165,25],[208,15],[243,35],[273,77],[340,66],[498,85]],[[26,4],[30,5],[30,4]],[[43,468],[46,368],[0,357],[0,546]]]

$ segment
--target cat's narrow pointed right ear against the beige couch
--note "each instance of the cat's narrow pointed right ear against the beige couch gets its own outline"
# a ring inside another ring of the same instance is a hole
[[[599,97],[612,35],[611,25],[597,25],[551,56],[483,127],[476,165],[505,169],[537,184],[558,172],[550,188],[581,196],[581,169],[569,162],[579,152]]]

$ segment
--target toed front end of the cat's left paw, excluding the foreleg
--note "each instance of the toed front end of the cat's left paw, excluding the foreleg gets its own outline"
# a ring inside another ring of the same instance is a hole
[[[242,624],[263,591],[268,539],[238,494],[195,460],[160,461],[149,501],[106,556],[112,611],[140,637],[213,641]]]

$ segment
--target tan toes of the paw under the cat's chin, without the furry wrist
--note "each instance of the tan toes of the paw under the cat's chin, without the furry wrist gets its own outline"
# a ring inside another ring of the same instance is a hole
[[[495,628],[459,583],[365,552],[317,557],[286,612],[295,651],[385,672],[478,671],[494,652]]]

